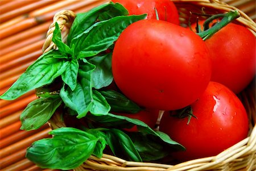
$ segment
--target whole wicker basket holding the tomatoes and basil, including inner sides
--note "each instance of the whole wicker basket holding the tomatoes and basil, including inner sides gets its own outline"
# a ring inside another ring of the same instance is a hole
[[[189,19],[196,19],[196,16],[191,16],[190,12],[199,13],[203,10],[206,14],[218,14],[230,10],[238,10],[236,7],[217,0],[173,0],[173,2],[179,11],[180,23],[184,26],[188,24]],[[256,24],[244,12],[238,11],[241,17],[236,22],[246,26],[256,35]],[[55,30],[54,23],[59,23],[65,40],[75,17],[76,14],[74,12],[67,10],[55,14],[53,23],[47,32],[43,52],[56,48],[51,41],[53,31]],[[217,156],[191,160],[176,165],[166,165],[125,161],[118,157],[104,154],[101,159],[90,156],[84,164],[75,170],[256,170],[255,82],[248,86],[239,97],[242,99],[250,118],[249,136]],[[49,124],[52,129],[65,127],[60,115],[57,113],[49,120]]]

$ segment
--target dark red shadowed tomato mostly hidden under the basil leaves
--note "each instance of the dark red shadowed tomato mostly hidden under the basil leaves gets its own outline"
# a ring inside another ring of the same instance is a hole
[[[124,113],[115,113],[116,115],[126,116],[128,118],[139,119],[142,122],[146,123],[150,128],[154,128],[156,121],[158,120],[159,110],[142,110],[137,114],[124,114]],[[137,126],[134,126],[130,129],[125,129],[126,131],[135,132],[138,131]]]

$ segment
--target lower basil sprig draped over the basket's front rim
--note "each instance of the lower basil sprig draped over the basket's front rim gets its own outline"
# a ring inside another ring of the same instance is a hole
[[[109,116],[111,118],[114,115]],[[125,132],[117,128],[85,128],[82,131],[71,127],[58,128],[49,133],[53,135],[52,138],[33,143],[27,149],[26,157],[42,168],[68,170],[81,165],[90,155],[102,157],[106,145],[109,145],[115,156],[128,161],[158,160],[167,156],[172,149],[184,149],[168,135],[153,131],[137,119],[125,116],[117,116],[115,119],[116,123],[126,120],[148,131]]]

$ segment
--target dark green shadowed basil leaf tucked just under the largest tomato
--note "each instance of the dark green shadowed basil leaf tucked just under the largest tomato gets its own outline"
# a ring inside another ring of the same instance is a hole
[[[137,113],[141,111],[136,103],[125,97],[125,95],[114,90],[100,91],[111,106],[112,112]]]

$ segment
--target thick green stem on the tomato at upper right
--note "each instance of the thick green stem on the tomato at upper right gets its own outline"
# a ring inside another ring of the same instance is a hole
[[[197,33],[204,41],[209,39],[212,35],[216,32],[221,30],[222,27],[225,27],[228,23],[232,22],[234,19],[240,17],[240,13],[235,11],[229,11],[226,14],[217,14],[213,15],[204,22],[204,31]],[[214,19],[222,18],[220,22],[216,23],[213,27],[209,28],[209,23],[212,22]]]

